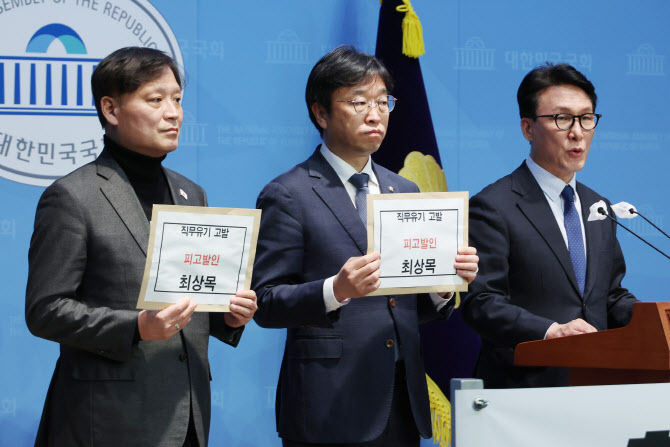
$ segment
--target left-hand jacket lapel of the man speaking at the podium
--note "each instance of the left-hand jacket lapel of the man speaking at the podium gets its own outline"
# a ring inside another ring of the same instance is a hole
[[[526,162],[512,174],[512,190],[521,196],[517,206],[545,240],[561,267],[563,267],[563,271],[568,276],[572,287],[578,295],[581,295],[575,270],[572,267],[570,252],[565,245],[565,239],[563,239],[561,230],[558,228],[558,223],[547,203],[544,192],[542,192],[540,185],[537,184],[533,174],[526,166]]]

